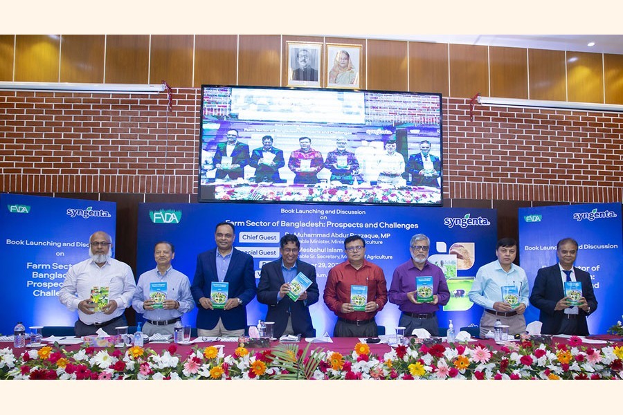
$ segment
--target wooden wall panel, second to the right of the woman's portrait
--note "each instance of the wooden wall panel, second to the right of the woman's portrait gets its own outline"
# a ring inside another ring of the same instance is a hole
[[[449,95],[448,44],[409,42],[409,91]]]

